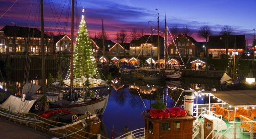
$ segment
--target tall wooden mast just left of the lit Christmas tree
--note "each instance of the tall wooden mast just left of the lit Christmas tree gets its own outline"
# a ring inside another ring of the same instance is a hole
[[[70,91],[72,96],[73,90],[73,70],[74,70],[74,0],[72,0],[72,9],[71,9],[71,48],[70,48],[70,57],[71,57],[71,66],[70,66]]]

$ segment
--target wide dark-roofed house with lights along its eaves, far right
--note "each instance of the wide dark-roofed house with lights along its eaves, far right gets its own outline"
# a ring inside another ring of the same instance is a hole
[[[230,57],[236,53],[238,57],[242,57],[246,46],[245,35],[230,35],[228,43],[228,56]],[[225,58],[227,53],[224,37],[222,35],[209,36],[207,50],[208,55],[210,55],[212,58]]]

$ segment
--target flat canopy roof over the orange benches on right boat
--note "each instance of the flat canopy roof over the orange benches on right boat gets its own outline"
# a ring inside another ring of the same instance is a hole
[[[256,91],[255,90],[233,90],[233,91],[217,91],[217,92],[202,92],[211,93],[215,97],[228,103],[231,106],[256,106]]]

